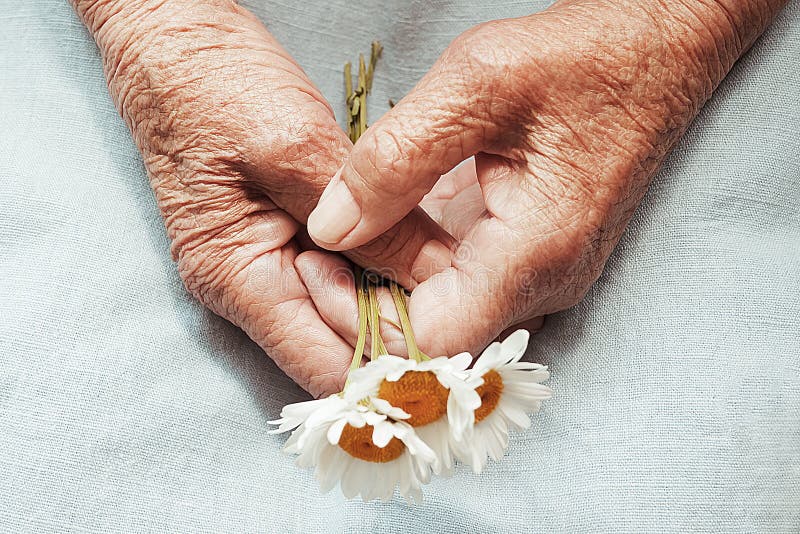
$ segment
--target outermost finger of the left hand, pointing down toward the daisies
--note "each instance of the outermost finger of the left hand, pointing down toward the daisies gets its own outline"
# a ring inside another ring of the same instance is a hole
[[[250,211],[211,240],[183,243],[187,289],[312,395],[340,391],[353,348],[320,317],[294,269],[297,223],[263,203]]]

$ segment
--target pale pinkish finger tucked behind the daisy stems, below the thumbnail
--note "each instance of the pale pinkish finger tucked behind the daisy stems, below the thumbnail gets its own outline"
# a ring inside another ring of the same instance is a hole
[[[355,346],[358,338],[358,302],[353,269],[341,256],[308,251],[295,258],[295,267],[325,322]],[[406,346],[391,294],[378,288],[381,338],[390,354],[405,356]],[[370,352],[369,336],[365,351]]]

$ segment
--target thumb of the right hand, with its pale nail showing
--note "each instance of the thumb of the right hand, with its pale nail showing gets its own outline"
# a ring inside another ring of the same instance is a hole
[[[414,209],[442,174],[483,149],[489,126],[459,87],[423,79],[366,131],[308,217],[314,241],[330,250],[369,242]]]

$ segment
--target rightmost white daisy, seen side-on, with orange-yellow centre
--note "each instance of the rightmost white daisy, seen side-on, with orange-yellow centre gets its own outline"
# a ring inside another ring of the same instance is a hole
[[[547,367],[520,361],[529,337],[526,330],[517,330],[502,343],[492,343],[470,370],[473,379],[483,379],[477,388],[481,404],[474,412],[471,435],[455,443],[454,452],[475,473],[483,470],[487,456],[502,458],[509,429],[528,428],[528,414],[538,412],[542,401],[552,396],[542,385],[550,377]]]

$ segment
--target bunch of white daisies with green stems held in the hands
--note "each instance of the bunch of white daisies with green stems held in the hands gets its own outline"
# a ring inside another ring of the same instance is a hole
[[[369,67],[360,61],[354,90],[345,67],[348,130],[355,141],[366,128],[366,95],[380,56],[373,44]],[[469,353],[430,358],[416,345],[406,296],[389,282],[408,358],[387,354],[380,336],[376,281],[356,269],[359,335],[344,389],[330,397],[290,404],[273,432],[289,432],[284,450],[313,468],[323,491],[341,485],[347,498],[389,500],[399,489],[422,498],[432,475],[448,475],[456,460],[480,473],[500,460],[509,430],[530,426],[551,391],[547,368],[521,358],[529,334],[518,330],[493,343],[474,362]],[[361,366],[369,332],[370,361]],[[471,366],[471,367],[470,367]]]

